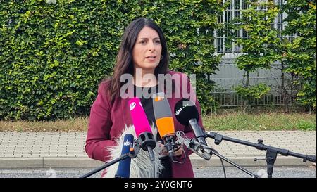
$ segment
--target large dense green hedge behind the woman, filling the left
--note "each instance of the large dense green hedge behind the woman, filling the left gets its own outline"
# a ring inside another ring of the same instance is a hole
[[[170,69],[197,75],[197,96],[208,111],[214,84],[204,74],[220,63],[213,30],[221,28],[222,11],[216,0],[0,0],[0,120],[89,115],[125,27],[140,16],[166,34]]]

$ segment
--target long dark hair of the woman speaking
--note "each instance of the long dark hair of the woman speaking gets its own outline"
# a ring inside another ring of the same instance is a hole
[[[153,30],[156,30],[161,41],[162,59],[160,60],[159,65],[154,70],[154,75],[156,75],[156,79],[158,79],[159,74],[166,74],[166,72],[168,71],[167,45],[161,28],[156,25],[154,21],[147,18],[138,18],[136,20],[133,20],[125,29],[125,33],[123,34],[120,49],[118,51],[118,55],[116,56],[116,66],[113,71],[113,76],[110,79],[105,80],[110,80],[110,89],[108,94],[109,96],[111,96],[111,103],[113,103],[116,96],[119,96],[120,87],[124,84],[124,82],[120,82],[121,75],[125,73],[130,73],[131,75],[134,75],[132,50],[135,46],[135,41],[137,41],[137,35],[144,27],[150,27]]]

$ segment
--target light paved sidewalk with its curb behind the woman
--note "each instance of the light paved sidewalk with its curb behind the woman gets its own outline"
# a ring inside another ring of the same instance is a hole
[[[316,155],[316,131],[225,131],[223,136],[285,148],[294,153]],[[57,168],[57,167],[99,167],[103,162],[90,159],[85,153],[87,132],[0,132],[0,168]],[[265,158],[266,151],[244,146],[230,141],[220,145],[213,139],[206,139],[209,146],[241,166],[266,166],[266,161],[254,162],[254,158]],[[190,156],[194,167],[220,166],[220,160],[213,155],[211,160],[201,159],[196,154]],[[275,166],[305,166],[300,158],[278,155]],[[230,166],[225,162],[225,166]]]

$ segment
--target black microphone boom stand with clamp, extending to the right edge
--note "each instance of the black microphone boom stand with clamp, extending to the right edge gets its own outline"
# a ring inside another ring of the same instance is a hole
[[[212,139],[215,140],[215,144],[219,145],[219,143],[222,140],[225,141],[231,141],[234,143],[240,143],[242,145],[246,145],[246,146],[251,146],[251,147],[255,147],[259,150],[266,150],[266,163],[267,163],[267,169],[268,169],[268,178],[272,178],[272,174],[273,174],[273,166],[274,166],[274,162],[276,160],[277,154],[279,153],[280,155],[291,155],[297,158],[302,158],[303,162],[306,162],[306,160],[309,160],[311,162],[316,162],[316,155],[302,155],[299,153],[294,153],[292,151],[289,151],[287,149],[282,149],[282,148],[275,148],[272,146],[266,146],[263,144],[263,140],[262,139],[258,139],[258,143],[251,143],[249,141],[242,141],[240,139],[234,139],[234,138],[230,138],[228,136],[223,136],[221,134],[217,134],[215,132],[205,132],[206,137],[210,137]],[[217,155],[216,153],[214,153],[215,155]],[[218,155],[217,155],[218,156]],[[254,159],[254,161],[256,160],[260,160],[260,159]]]

